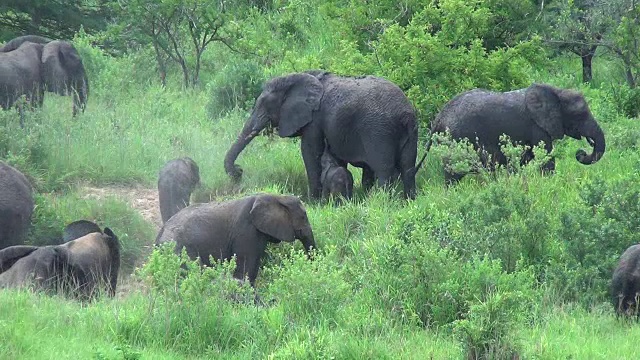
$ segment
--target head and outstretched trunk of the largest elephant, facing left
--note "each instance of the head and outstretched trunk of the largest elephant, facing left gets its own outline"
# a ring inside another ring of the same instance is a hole
[[[227,174],[240,180],[242,169],[235,161],[260,131],[272,125],[281,137],[298,136],[309,124],[313,112],[320,107],[324,88],[318,78],[310,73],[297,73],[270,80],[258,96],[251,116],[245,123],[236,142],[224,160]]]

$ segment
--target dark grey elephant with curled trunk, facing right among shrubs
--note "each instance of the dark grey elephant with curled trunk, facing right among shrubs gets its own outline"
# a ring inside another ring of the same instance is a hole
[[[467,138],[482,156],[485,166],[507,163],[500,151],[500,136],[506,134],[512,142],[534,146],[544,142],[550,152],[552,142],[565,135],[580,140],[585,137],[593,152],[576,153],[576,159],[585,165],[597,162],[605,152],[602,129],[589,111],[584,96],[576,91],[560,89],[546,84],[533,84],[526,89],[506,93],[475,89],[456,96],[436,116],[432,133],[449,131],[456,139]],[[534,157],[529,150],[522,157],[527,163]],[[551,159],[543,167],[553,171]],[[445,172],[448,183],[460,180],[465,174]]]

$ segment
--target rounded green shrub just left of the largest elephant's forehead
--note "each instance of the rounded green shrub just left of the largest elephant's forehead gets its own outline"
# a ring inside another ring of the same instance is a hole
[[[227,63],[207,84],[211,94],[207,104],[207,113],[218,118],[236,107],[250,109],[260,92],[264,77],[255,62],[248,60]]]

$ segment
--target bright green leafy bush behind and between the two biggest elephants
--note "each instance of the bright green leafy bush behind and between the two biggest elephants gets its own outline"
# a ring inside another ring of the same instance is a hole
[[[430,121],[441,106],[468,89],[510,90],[529,84],[527,65],[541,61],[539,40],[508,49],[487,50],[492,12],[488,5],[460,0],[440,1],[415,13],[406,26],[393,24],[371,43],[373,52],[351,54],[332,69],[341,73],[374,73],[403,89]],[[345,41],[346,53],[358,52]]]

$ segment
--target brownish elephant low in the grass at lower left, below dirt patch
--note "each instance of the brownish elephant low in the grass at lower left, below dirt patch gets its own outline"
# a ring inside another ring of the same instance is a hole
[[[63,245],[18,245],[0,250],[0,287],[32,287],[91,299],[106,289],[115,295],[120,242],[109,228]]]

